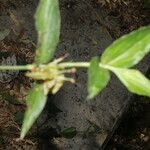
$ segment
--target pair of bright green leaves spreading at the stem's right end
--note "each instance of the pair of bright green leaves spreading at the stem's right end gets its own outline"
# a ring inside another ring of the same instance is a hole
[[[150,26],[133,31],[110,45],[101,57],[102,64],[114,72],[127,89],[150,96],[150,81],[141,72],[130,68],[150,51]]]

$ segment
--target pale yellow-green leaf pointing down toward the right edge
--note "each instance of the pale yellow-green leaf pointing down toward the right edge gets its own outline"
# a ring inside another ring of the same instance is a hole
[[[150,96],[150,80],[135,69],[112,70],[127,89],[135,94]]]

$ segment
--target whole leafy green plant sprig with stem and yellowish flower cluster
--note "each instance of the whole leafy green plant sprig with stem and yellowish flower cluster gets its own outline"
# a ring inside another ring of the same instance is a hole
[[[66,74],[76,68],[87,68],[87,99],[95,97],[108,84],[114,73],[132,93],[150,96],[150,80],[133,69],[150,51],[150,26],[142,27],[113,42],[99,57],[89,62],[63,62],[53,59],[60,36],[60,9],[58,0],[40,0],[35,14],[38,32],[36,56],[33,64],[0,66],[0,70],[27,70],[26,76],[36,80],[29,90],[20,139],[23,139],[42,112],[48,93],[55,94],[64,82],[74,83]]]

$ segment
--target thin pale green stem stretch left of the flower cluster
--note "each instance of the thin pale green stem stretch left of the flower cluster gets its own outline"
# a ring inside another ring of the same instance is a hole
[[[34,65],[25,66],[0,66],[0,70],[32,70]]]

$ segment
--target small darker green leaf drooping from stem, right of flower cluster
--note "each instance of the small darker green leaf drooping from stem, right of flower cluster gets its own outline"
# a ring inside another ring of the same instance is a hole
[[[96,96],[107,85],[109,79],[109,72],[99,67],[99,58],[92,58],[88,70],[88,99]]]

